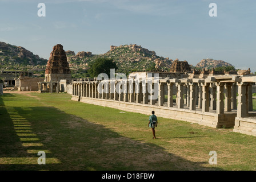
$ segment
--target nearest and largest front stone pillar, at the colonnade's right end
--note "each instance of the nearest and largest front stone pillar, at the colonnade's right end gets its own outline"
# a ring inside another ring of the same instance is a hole
[[[237,105],[237,117],[243,118],[247,115],[247,103],[246,103],[246,83],[238,82],[238,105]]]

